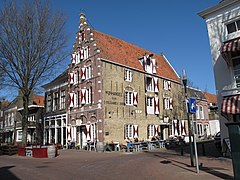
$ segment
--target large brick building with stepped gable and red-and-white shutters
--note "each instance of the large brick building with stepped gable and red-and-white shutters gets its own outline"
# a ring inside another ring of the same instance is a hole
[[[91,29],[84,14],[68,75],[67,139],[80,147],[186,135],[181,79],[167,58]]]

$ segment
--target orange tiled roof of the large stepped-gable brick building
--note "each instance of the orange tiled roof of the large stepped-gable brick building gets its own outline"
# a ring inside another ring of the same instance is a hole
[[[96,45],[100,50],[101,58],[143,71],[143,66],[138,59],[145,53],[153,54],[153,58],[157,62],[157,75],[180,82],[180,78],[163,55],[154,54],[134,44],[96,30],[92,30],[92,32]]]

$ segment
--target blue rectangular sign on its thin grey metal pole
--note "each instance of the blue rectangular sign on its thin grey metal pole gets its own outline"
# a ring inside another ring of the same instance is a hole
[[[189,98],[189,112],[192,114],[192,124],[193,124],[193,114],[195,114],[196,111],[197,111],[196,99]],[[194,153],[195,153],[195,161],[196,161],[196,172],[199,173],[197,141],[196,141],[196,127],[195,126],[193,126],[193,143],[194,143]]]

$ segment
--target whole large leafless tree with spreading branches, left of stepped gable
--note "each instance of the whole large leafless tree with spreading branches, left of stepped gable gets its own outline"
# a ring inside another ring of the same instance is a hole
[[[4,1],[0,10],[0,71],[4,84],[23,95],[22,144],[27,143],[30,93],[62,62],[65,17],[41,0]]]

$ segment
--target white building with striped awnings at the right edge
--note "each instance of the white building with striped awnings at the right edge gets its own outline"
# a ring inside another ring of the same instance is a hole
[[[223,139],[225,123],[240,121],[240,1],[221,1],[199,15],[208,29]]]

